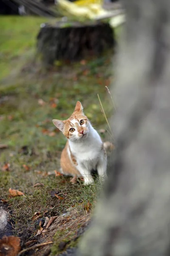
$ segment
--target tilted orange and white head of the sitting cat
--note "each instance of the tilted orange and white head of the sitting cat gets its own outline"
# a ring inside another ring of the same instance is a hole
[[[90,122],[83,113],[82,104],[78,101],[74,112],[67,120],[53,120],[54,125],[62,131],[66,138],[73,142],[85,140],[91,129]]]

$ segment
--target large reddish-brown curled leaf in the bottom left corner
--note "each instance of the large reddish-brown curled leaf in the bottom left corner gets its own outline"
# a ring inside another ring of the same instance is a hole
[[[0,239],[0,256],[17,256],[20,250],[19,237],[3,236],[3,238]]]

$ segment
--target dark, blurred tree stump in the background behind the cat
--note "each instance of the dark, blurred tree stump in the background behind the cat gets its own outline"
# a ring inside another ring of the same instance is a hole
[[[55,60],[77,61],[100,55],[114,44],[113,29],[100,22],[44,24],[37,36],[37,50],[45,65],[52,65]]]

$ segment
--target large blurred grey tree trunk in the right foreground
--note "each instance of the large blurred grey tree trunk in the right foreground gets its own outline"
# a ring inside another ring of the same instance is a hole
[[[126,1],[116,149],[77,256],[170,255],[170,1]]]

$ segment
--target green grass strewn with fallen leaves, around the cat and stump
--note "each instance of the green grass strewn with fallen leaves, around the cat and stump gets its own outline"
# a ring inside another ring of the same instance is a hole
[[[35,61],[36,35],[44,21],[38,17],[0,17],[0,144],[8,145],[0,149],[0,198],[8,200],[14,234],[23,242],[37,232],[34,212],[50,217],[74,206],[86,215],[84,205],[93,204],[101,188],[73,185],[68,177],[49,175],[59,169],[66,142],[52,119],[67,119],[79,100],[94,127],[106,128],[97,93],[107,116],[112,111],[105,89],[111,82],[111,54],[89,58],[85,64],[60,63],[46,72]],[[3,170],[6,163],[9,170]],[[37,182],[44,186],[34,187]],[[10,198],[10,187],[25,196]],[[56,189],[62,200],[51,197],[51,190]],[[29,234],[28,228],[32,230]]]

